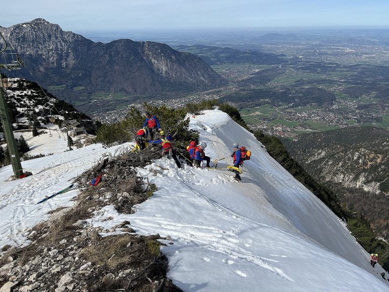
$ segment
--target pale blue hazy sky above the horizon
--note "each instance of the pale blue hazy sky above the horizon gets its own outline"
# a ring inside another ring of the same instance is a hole
[[[1,26],[44,18],[64,30],[389,27],[388,0],[18,0]]]

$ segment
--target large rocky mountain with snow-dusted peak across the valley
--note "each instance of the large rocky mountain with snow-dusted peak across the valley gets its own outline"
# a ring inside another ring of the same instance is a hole
[[[201,58],[161,43],[125,39],[94,43],[41,18],[0,31],[26,63],[17,76],[36,78],[45,87],[77,88],[77,94],[158,95],[226,83]]]

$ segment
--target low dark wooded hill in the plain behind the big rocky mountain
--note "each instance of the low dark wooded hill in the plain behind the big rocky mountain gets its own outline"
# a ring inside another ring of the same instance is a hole
[[[176,46],[180,52],[189,52],[199,56],[209,65],[249,63],[257,65],[274,65],[286,63],[285,55],[262,53],[254,50],[237,50],[231,48],[210,47],[203,45]]]

